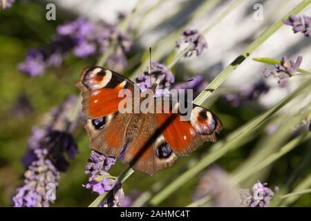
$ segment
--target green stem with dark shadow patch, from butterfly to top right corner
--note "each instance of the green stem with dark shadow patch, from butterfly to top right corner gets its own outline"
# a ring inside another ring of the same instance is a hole
[[[288,18],[292,14],[297,14],[298,12],[303,10],[303,8],[308,6],[310,2],[311,0],[301,1],[301,3],[299,3],[299,5],[297,5],[293,10],[288,12],[281,19],[279,19],[279,21],[276,21],[276,23],[274,23],[272,26],[267,28],[265,32],[263,32],[256,40],[252,42],[252,44],[250,44],[245,50],[243,50],[241,55],[236,57],[236,59],[234,59],[234,61],[232,61],[232,63],[229,64],[229,66],[227,66],[213,81],[211,81],[211,84],[209,84],[207,88],[205,88],[205,90],[203,90],[202,93],[200,93],[200,95],[196,97],[196,99],[194,100],[194,104],[202,105],[207,100],[209,95],[211,95],[211,93],[214,90],[216,90],[216,88],[218,88],[220,84],[223,84],[223,81],[227,79],[227,77],[229,76],[230,73],[232,73],[233,70],[235,70],[240,64],[242,64],[243,61],[247,57],[249,57],[249,55],[252,52],[254,52],[256,48],[261,46],[261,44],[263,44],[265,40],[271,37],[274,34],[274,32],[276,32],[276,30],[279,30],[279,28],[283,26],[284,19]]]

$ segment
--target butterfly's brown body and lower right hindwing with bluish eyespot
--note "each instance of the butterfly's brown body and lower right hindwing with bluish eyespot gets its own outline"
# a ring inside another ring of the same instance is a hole
[[[153,113],[135,114],[127,128],[122,160],[138,171],[153,175],[177,159],[164,139]]]

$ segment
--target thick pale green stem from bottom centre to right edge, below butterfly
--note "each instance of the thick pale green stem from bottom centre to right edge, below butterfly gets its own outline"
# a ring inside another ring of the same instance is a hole
[[[266,111],[259,117],[256,117],[256,119],[252,120],[251,122],[247,123],[245,126],[243,126],[242,130],[238,130],[240,133],[238,133],[235,137],[232,137],[231,140],[228,140],[218,148],[216,151],[211,152],[209,155],[206,155],[205,157],[198,162],[195,166],[193,166],[191,169],[188,169],[185,173],[180,175],[179,177],[176,178],[171,184],[167,185],[164,189],[162,189],[159,193],[153,196],[150,200],[150,204],[152,205],[158,205],[160,202],[162,202],[164,199],[166,199],[171,193],[176,191],[177,189],[180,188],[185,182],[190,180],[192,177],[200,173],[203,169],[206,168],[206,166],[209,166],[211,163],[215,162],[218,160],[220,157],[225,155],[228,151],[232,150],[232,148],[236,147],[239,145],[240,142],[243,142],[245,138],[247,138],[247,135],[254,131],[258,126],[260,126],[265,120],[272,116],[276,111],[279,111],[285,104],[288,104],[294,97],[299,95],[301,91],[305,90],[305,88],[308,88],[311,84],[311,79],[308,81],[305,81],[304,84],[302,84],[299,88],[294,90],[290,95],[285,97],[284,99],[281,100],[281,102],[277,103],[274,105],[270,110]]]

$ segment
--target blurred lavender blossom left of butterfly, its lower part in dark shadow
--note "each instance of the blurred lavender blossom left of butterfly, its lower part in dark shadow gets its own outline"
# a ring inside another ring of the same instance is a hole
[[[32,136],[28,138],[28,152],[23,157],[23,163],[27,167],[32,160],[36,159],[34,151],[37,149],[46,149],[48,157],[52,160],[54,166],[59,171],[66,171],[68,160],[73,159],[78,153],[77,144],[71,132],[77,126],[77,122],[68,125],[70,108],[73,108],[77,102],[77,97],[67,97],[65,102],[58,108],[52,108],[50,113],[44,117],[43,126],[32,128]]]

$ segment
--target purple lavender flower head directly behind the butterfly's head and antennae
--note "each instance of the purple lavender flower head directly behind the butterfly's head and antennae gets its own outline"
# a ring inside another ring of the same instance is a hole
[[[151,80],[151,82],[150,82]],[[151,74],[148,71],[140,73],[140,75],[135,79],[136,83],[139,84],[140,90],[146,90],[151,88],[152,84],[157,84],[156,89],[165,88],[174,83],[174,75],[169,71],[169,69],[156,61],[151,62]],[[162,90],[156,90],[156,95],[162,93]]]

